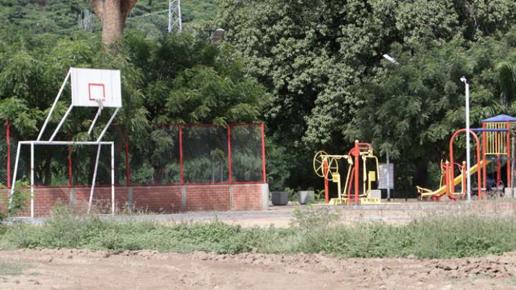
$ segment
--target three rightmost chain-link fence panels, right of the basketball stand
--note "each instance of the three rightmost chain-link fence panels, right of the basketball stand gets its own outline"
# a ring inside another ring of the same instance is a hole
[[[145,143],[145,142],[144,142]],[[262,124],[162,124],[144,148],[129,147],[131,184],[264,182]]]

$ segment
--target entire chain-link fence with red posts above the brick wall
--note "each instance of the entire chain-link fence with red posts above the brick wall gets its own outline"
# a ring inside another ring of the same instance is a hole
[[[17,140],[8,125],[0,121],[0,186],[10,186],[15,167]],[[263,124],[164,124],[144,139],[123,139],[114,148],[118,186],[265,182]],[[19,156],[17,180],[29,182],[30,145]],[[35,186],[92,184],[97,146],[36,145],[34,156]],[[111,184],[110,170],[111,146],[103,145],[96,186]]]

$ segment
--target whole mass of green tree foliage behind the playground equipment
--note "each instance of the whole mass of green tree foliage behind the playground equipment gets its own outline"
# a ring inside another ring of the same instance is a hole
[[[287,185],[322,184],[307,169],[313,152],[343,154],[359,138],[392,150],[396,189],[414,193],[412,183],[432,183],[426,164],[439,162],[464,124],[462,75],[475,122],[513,111],[510,97],[499,99],[513,94],[503,77],[510,70],[499,69],[499,84],[495,68],[515,63],[515,8],[510,0],[222,0],[219,23],[272,95],[269,135],[294,160]]]

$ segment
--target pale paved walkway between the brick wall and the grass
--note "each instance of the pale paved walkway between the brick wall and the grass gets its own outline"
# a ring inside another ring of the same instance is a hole
[[[120,221],[144,221],[155,220],[157,222],[209,222],[220,220],[227,224],[238,224],[240,226],[270,226],[287,227],[294,220],[294,210],[301,211],[316,210],[321,208],[331,209],[341,216],[341,221],[346,224],[354,222],[387,222],[390,224],[406,224],[415,218],[428,215],[448,215],[460,211],[484,211],[487,213],[508,213],[516,212],[516,202],[513,200],[496,201],[466,201],[459,202],[419,202],[417,200],[395,200],[383,204],[368,204],[354,206],[330,206],[327,204],[312,205],[287,205],[270,206],[267,211],[207,211],[207,212],[186,212],[172,214],[138,214],[138,215],[100,215],[102,220]],[[44,218],[19,218],[10,222],[28,222],[41,224]]]

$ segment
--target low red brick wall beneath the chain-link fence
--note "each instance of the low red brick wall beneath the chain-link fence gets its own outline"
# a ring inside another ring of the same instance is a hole
[[[266,185],[266,184],[265,184]],[[115,187],[115,206],[122,209],[133,203],[137,210],[154,213],[179,211],[260,211],[264,207],[264,184],[223,184],[184,186],[124,186]],[[26,189],[30,192],[29,189]],[[131,194],[132,193],[132,194]],[[2,190],[0,194],[8,195]],[[35,189],[35,216],[48,215],[57,202],[73,204],[79,211],[86,211],[90,188]],[[267,198],[267,197],[265,197]],[[93,195],[95,211],[111,213],[111,187],[96,187]],[[0,201],[0,207],[4,206]],[[20,216],[30,216],[30,200]]]

